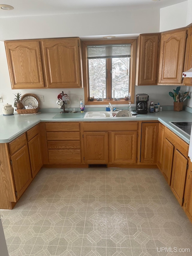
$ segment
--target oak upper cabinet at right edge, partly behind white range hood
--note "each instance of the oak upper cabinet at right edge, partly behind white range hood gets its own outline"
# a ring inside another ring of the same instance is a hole
[[[187,31],[183,71],[187,71],[190,68],[192,68],[192,26]],[[183,84],[192,85],[192,77],[184,78]]]

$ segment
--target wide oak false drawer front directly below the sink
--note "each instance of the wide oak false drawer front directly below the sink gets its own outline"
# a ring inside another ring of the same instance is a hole
[[[137,131],[138,122],[84,122],[84,131]]]

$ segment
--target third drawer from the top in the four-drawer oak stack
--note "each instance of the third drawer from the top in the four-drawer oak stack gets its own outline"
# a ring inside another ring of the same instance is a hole
[[[80,149],[80,140],[47,141],[48,149]]]

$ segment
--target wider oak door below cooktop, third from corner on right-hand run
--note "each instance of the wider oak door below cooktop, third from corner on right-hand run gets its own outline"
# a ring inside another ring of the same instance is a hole
[[[171,190],[181,206],[184,195],[187,162],[188,160],[178,150],[175,150],[171,176]]]

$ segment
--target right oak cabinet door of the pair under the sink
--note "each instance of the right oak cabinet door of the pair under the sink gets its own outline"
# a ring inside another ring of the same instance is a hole
[[[135,164],[137,132],[112,132],[112,163]]]

